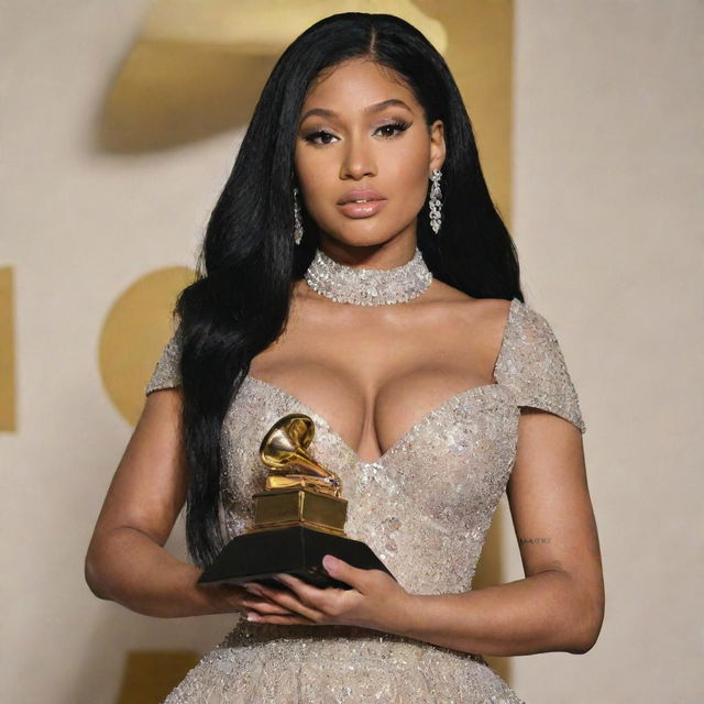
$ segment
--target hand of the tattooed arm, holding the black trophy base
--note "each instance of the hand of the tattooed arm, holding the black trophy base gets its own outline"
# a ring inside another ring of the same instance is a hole
[[[414,595],[394,578],[383,570],[360,570],[329,554],[322,564],[330,576],[353,588],[319,588],[290,574],[276,574],[276,579],[288,588],[254,583],[244,585],[252,594],[242,602],[251,609],[249,620],[285,626],[362,626],[397,634],[404,630]],[[272,603],[294,612],[294,615],[275,613]]]

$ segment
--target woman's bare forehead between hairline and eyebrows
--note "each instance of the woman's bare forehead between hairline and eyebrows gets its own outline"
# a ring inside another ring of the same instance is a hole
[[[371,59],[350,59],[311,80],[301,112],[315,107],[361,112],[389,98],[403,100],[413,110],[420,108],[400,74]]]

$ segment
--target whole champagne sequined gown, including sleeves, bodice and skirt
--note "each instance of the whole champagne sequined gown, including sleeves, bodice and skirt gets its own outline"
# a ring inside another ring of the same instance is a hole
[[[179,384],[178,331],[146,394]],[[416,594],[468,592],[516,455],[520,408],[557,414],[585,431],[578,396],[546,318],[510,301],[494,383],[448,398],[372,463],[322,416],[268,382],[246,376],[224,421],[226,535],[253,521],[266,470],[261,439],[288,413],[315,421],[309,448],[340,474],[349,536],[366,542]],[[352,626],[255,624],[233,614],[224,640],[164,704],[429,704],[521,700],[480,656]]]

